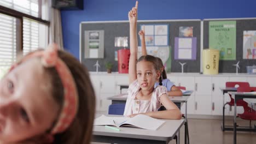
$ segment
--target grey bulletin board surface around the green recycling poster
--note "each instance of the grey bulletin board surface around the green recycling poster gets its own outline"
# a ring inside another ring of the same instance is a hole
[[[246,66],[256,65],[255,59],[243,59],[243,31],[256,31],[256,19],[206,19],[203,20],[203,49],[209,47],[210,21],[236,21],[236,60],[219,61],[219,73],[236,73],[236,64],[240,61],[238,73],[246,73]]]

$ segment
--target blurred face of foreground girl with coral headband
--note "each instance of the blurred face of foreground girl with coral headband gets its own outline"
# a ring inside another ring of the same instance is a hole
[[[60,107],[39,59],[29,59],[0,81],[0,141],[18,142],[49,130]]]

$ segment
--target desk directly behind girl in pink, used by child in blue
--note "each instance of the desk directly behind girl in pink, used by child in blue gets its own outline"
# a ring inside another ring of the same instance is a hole
[[[189,91],[189,93],[183,94],[181,97],[172,97],[169,96],[170,100],[173,101],[173,103],[185,103],[185,143],[187,143],[187,135],[188,135],[188,118],[187,118],[187,101],[188,96],[191,95],[193,91]],[[123,104],[126,103],[127,99],[127,93],[125,94],[118,94],[113,97],[107,98],[108,100],[112,101],[112,104]]]

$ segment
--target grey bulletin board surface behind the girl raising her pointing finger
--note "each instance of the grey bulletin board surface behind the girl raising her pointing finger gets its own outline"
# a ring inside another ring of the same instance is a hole
[[[171,72],[180,73],[181,65],[184,65],[184,73],[200,72],[200,44],[201,44],[201,20],[147,20],[138,21],[137,31],[140,25],[148,24],[168,24],[169,45],[171,47]],[[193,37],[196,37],[196,59],[195,60],[175,60],[174,59],[174,38],[179,37],[179,27],[193,27]],[[104,58],[85,58],[85,34],[84,31],[104,31]],[[80,23],[80,61],[89,71],[96,71],[94,64],[98,61],[101,67],[98,71],[107,71],[104,67],[106,61],[112,62],[112,71],[118,71],[118,62],[114,61],[115,51],[123,49],[114,47],[115,37],[129,37],[129,21],[95,21]],[[129,38],[128,38],[129,39]],[[139,37],[138,37],[139,41]],[[129,40],[128,48],[129,49]]]

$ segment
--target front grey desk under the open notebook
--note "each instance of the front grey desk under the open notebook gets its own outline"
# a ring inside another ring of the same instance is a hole
[[[96,114],[96,117],[101,115]],[[120,115],[108,115],[119,117]],[[120,144],[166,144],[179,133],[184,124],[184,119],[166,121],[158,130],[146,130],[139,128],[120,127],[120,131],[105,128],[103,125],[94,125],[92,130],[93,142],[120,143]],[[179,136],[178,136],[179,137]],[[179,142],[179,141],[178,141]]]

